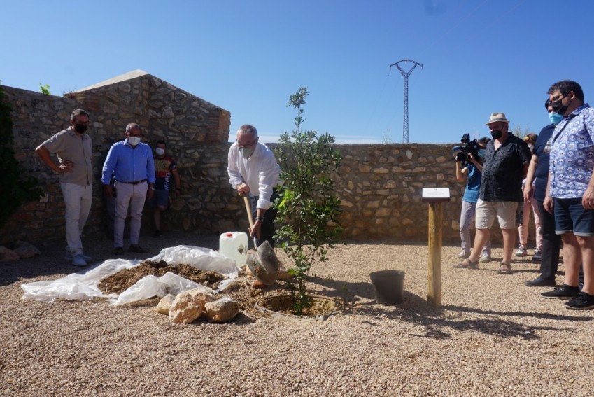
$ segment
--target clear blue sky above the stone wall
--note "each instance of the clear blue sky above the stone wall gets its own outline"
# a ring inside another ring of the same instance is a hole
[[[250,123],[265,142],[293,130],[286,102],[304,86],[304,128],[401,143],[389,65],[411,59],[409,141],[455,143],[498,111],[539,132],[562,79],[588,102],[592,15],[581,0],[0,0],[0,81],[63,95],[142,69],[230,111],[230,139]]]

